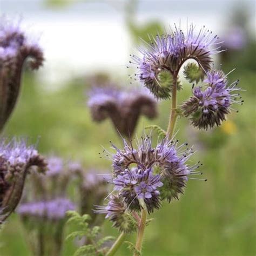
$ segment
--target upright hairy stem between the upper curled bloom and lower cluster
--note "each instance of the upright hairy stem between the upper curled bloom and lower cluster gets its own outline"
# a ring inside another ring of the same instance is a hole
[[[177,120],[177,76],[175,76],[173,85],[172,85],[172,106],[169,124],[166,132],[166,137],[172,138],[176,120]]]

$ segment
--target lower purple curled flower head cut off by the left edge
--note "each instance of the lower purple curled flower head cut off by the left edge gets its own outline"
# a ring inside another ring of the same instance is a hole
[[[12,139],[0,142],[0,210],[4,220],[13,212],[21,199],[26,174],[30,167],[37,166],[45,172],[47,163],[33,146],[25,140]]]

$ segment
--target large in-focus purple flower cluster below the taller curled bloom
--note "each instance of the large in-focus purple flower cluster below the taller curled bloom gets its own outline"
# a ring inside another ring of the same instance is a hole
[[[126,140],[124,149],[118,149],[113,144],[112,147],[116,153],[111,158],[111,183],[114,184],[113,194],[117,194],[122,204],[117,207],[110,202],[105,208],[98,208],[105,211],[110,219],[113,213],[116,219],[116,214],[139,212],[144,207],[151,213],[160,207],[162,200],[178,199],[188,176],[201,174],[195,171],[199,163],[192,166],[187,163],[193,154],[187,143],[178,145],[177,140],[166,138],[153,147],[151,138],[145,137],[138,140],[136,148]]]

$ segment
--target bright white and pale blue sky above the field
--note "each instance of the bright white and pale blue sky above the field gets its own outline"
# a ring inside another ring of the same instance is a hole
[[[125,28],[123,0],[77,1],[68,8],[49,9],[42,0],[0,0],[0,13],[22,16],[22,24],[41,35],[46,62],[41,77],[48,84],[61,84],[72,75],[95,70],[127,72],[132,51]],[[235,1],[140,1],[138,24],[157,19],[168,28],[179,20],[206,25],[220,33]],[[255,29],[255,2],[251,26]]]

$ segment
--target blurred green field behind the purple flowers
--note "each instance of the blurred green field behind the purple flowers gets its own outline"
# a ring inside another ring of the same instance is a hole
[[[228,69],[228,68],[227,68]],[[228,71],[228,70],[225,70]],[[180,201],[164,204],[152,214],[146,228],[144,253],[147,256],[253,256],[256,254],[255,229],[255,80],[254,71],[238,68],[230,79],[240,78],[245,104],[238,106],[226,129],[199,134],[195,160],[204,164],[207,182],[190,180]],[[6,136],[26,136],[32,142],[39,137],[42,153],[80,159],[87,169],[110,169],[110,162],[99,159],[102,146],[119,139],[109,120],[102,124],[91,122],[84,96],[85,81],[77,79],[62,89],[49,92],[38,85],[32,74],[23,79],[23,90],[16,110],[5,127]],[[186,98],[191,85],[180,93]],[[166,127],[169,102],[160,103],[159,118],[154,120]],[[152,122],[153,123],[153,122]],[[140,119],[137,134],[150,124]],[[177,137],[194,143],[187,130],[187,120],[179,120]],[[230,126],[230,124],[232,124]],[[203,139],[200,139],[203,138]],[[201,146],[203,145],[203,146]],[[104,233],[117,235],[109,223]],[[16,214],[0,233],[1,256],[30,255]],[[135,237],[129,238],[134,241]],[[64,255],[72,255],[72,242],[65,244]],[[117,255],[130,255],[127,245]]]

